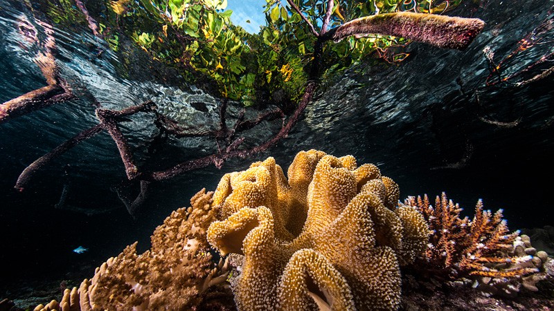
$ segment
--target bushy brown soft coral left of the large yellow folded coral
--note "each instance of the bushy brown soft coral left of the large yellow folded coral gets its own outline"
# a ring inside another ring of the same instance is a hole
[[[212,192],[199,191],[191,207],[177,209],[152,235],[152,248],[136,254],[136,243],[96,269],[61,303],[35,310],[191,310],[224,292],[228,270],[213,263],[206,229],[216,219]],[[216,288],[213,285],[219,285]],[[219,296],[221,299],[221,296]]]

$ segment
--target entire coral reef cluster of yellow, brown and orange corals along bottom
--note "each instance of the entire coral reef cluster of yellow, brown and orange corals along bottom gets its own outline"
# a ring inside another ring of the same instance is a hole
[[[166,218],[148,251],[127,246],[35,311],[397,310],[402,288],[514,296],[553,279],[553,259],[481,200],[472,220],[445,194],[435,207],[427,196],[402,204],[375,165],[316,150],[298,153],[287,176],[274,158],[227,173]],[[416,273],[401,279],[401,266]],[[413,297],[404,308],[417,308]],[[483,299],[474,305],[494,300]]]

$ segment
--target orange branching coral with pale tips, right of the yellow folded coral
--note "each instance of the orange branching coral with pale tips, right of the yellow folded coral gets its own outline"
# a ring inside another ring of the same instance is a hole
[[[461,207],[445,193],[436,197],[435,207],[427,195],[409,197],[404,206],[417,207],[431,229],[425,261],[418,263],[425,270],[445,272],[450,279],[469,275],[510,278],[537,272],[534,266],[523,264],[532,256],[510,254],[519,232],[508,232],[501,209],[492,214],[479,200],[472,220],[460,218]]]

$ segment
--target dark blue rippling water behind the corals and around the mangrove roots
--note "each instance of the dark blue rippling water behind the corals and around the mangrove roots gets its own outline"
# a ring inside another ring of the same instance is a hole
[[[228,1],[231,6],[235,0]],[[241,132],[240,150],[274,137],[297,103],[281,100],[286,92],[278,91],[264,101],[260,90],[254,91],[259,102],[247,109],[241,100],[227,102],[213,91],[220,87],[213,80],[188,82],[181,70],[190,67],[166,66],[124,35],[118,41],[95,35],[79,3],[89,17],[109,19],[104,14],[110,1],[0,0],[0,102],[48,84],[39,66],[47,51],[53,51],[57,75],[73,93],[69,100],[0,122],[0,300],[20,308],[40,299],[47,303],[61,280],[69,281],[68,288],[78,286],[74,282],[90,278],[126,245],[139,241],[139,253],[150,248],[150,235],[163,219],[189,206],[200,189],[215,190],[225,173],[269,156],[286,173],[296,154],[310,149],[377,165],[400,186],[400,200],[445,191],[465,209],[464,216],[472,217],[480,198],[485,209],[503,209],[510,231],[548,232],[554,226],[553,1],[462,1],[447,15],[485,21],[465,50],[413,42],[400,47],[408,55],[402,62],[377,62],[373,55],[337,75],[322,75],[283,139],[260,153],[229,158],[220,168],[210,164],[149,180],[148,196],[132,215],[129,206],[140,197],[141,182],[127,178],[107,131],[44,164],[25,187],[15,186],[37,158],[96,126],[98,107],[116,111],[152,101],[157,113],[191,131],[220,129],[222,102],[229,129],[237,120],[256,120],[276,109],[284,113]],[[259,4],[262,12],[265,3]],[[247,4],[233,8],[238,24],[249,18]],[[263,23],[259,15],[242,25],[256,32]],[[104,27],[116,32],[130,26],[121,15]],[[118,120],[143,171],[163,171],[226,147],[225,140],[210,136],[161,135],[156,117],[136,113]],[[554,255],[548,234],[541,245]],[[44,290],[45,284],[53,290]]]

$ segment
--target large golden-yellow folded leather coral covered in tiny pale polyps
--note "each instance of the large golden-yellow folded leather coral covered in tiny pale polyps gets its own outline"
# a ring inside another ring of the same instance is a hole
[[[395,310],[400,265],[427,247],[429,229],[373,164],[302,151],[288,180],[274,158],[226,174],[208,241],[244,255],[239,310]]]

